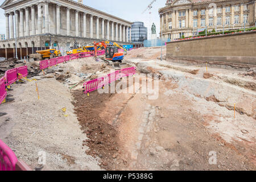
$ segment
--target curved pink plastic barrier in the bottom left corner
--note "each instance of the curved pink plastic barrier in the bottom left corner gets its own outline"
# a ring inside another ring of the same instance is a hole
[[[18,159],[14,152],[0,140],[0,171],[15,171]]]

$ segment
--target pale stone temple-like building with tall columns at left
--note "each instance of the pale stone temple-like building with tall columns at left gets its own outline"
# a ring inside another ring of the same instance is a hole
[[[75,42],[81,46],[101,40],[131,41],[131,22],[75,1],[6,0],[1,8],[5,10],[6,40],[0,48],[14,48],[15,35],[18,47],[57,43],[62,51]]]

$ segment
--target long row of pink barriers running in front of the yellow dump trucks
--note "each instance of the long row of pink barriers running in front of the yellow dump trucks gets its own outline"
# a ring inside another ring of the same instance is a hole
[[[101,56],[104,54],[105,54],[105,50],[97,51],[98,56]],[[81,53],[75,53],[73,55],[67,55],[67,56],[56,57],[48,60],[42,60],[40,61],[40,69],[46,69],[54,65],[58,65],[60,63],[64,63],[73,59],[80,59],[82,57],[92,57],[92,56],[94,56],[94,52],[81,52]]]

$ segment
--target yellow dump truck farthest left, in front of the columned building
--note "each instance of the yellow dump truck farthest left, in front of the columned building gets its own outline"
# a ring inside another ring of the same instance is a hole
[[[32,53],[28,55],[30,59],[34,59],[36,61],[40,61],[43,59],[52,59],[54,57],[61,56],[61,52],[56,49],[46,49],[42,51],[36,51],[36,53]]]

